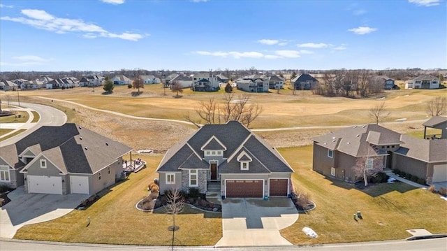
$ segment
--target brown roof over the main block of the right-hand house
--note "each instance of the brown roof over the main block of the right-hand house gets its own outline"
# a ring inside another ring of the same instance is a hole
[[[338,150],[353,157],[380,155],[374,145],[399,145],[400,134],[378,124],[365,124],[332,131],[314,138],[317,145]]]

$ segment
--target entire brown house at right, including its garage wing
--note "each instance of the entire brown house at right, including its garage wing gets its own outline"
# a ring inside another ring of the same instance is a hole
[[[446,125],[447,117],[433,117],[424,123],[425,127],[444,129],[444,135]],[[356,182],[353,166],[363,157],[382,168],[416,175],[427,184],[447,182],[447,138],[427,138],[432,140],[401,135],[376,124],[333,131],[314,138],[313,170]]]

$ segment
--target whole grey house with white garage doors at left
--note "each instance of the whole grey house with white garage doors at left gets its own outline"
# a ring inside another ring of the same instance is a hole
[[[0,148],[0,181],[29,193],[95,194],[121,177],[131,150],[76,124],[44,126]]]

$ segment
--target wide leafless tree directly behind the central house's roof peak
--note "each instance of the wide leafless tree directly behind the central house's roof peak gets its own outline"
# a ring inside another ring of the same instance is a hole
[[[200,127],[200,124],[223,124],[231,120],[239,121],[249,127],[262,112],[260,105],[249,102],[250,96],[247,94],[242,94],[235,99],[233,93],[227,93],[221,104],[214,98],[200,102],[199,108],[196,109],[196,114],[200,117],[199,121],[194,121],[189,113],[184,117],[197,127]]]

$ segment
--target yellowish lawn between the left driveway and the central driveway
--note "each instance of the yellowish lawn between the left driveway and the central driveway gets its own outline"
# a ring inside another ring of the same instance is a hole
[[[138,156],[147,168],[105,191],[86,210],[73,212],[50,222],[22,227],[14,238],[75,243],[170,245],[172,215],[163,209],[154,213],[137,210],[135,204],[147,195],[147,185],[158,177],[155,168],[162,156]],[[91,218],[88,227],[87,217]],[[184,207],[177,215],[175,245],[214,245],[222,237],[220,213],[204,213]]]

